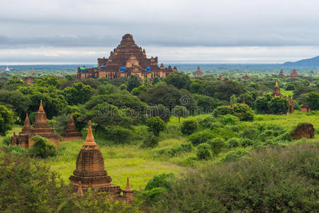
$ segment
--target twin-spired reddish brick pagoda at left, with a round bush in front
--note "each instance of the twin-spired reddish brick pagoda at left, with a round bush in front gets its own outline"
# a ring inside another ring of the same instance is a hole
[[[26,114],[26,120],[24,121],[22,131],[16,135],[13,133],[11,137],[10,145],[20,145],[23,148],[31,148],[33,141],[31,138],[33,136],[42,136],[47,138],[55,146],[60,147],[60,137],[54,130],[47,124],[47,116],[43,109],[42,100],[40,101],[40,107],[37,115],[35,116],[35,124],[30,128],[30,120],[28,114]]]

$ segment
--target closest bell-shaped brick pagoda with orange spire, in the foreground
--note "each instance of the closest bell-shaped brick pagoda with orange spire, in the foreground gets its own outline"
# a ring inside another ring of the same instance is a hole
[[[77,155],[76,170],[69,177],[69,181],[70,185],[78,189],[78,192],[79,188],[81,188],[80,191],[85,191],[91,187],[101,192],[108,192],[109,197],[115,200],[126,202],[133,200],[133,190],[130,189],[129,180],[127,180],[125,190],[121,190],[118,185],[111,184],[112,178],[108,176],[104,168],[103,155],[94,141],[91,121],[89,121],[86,141]]]

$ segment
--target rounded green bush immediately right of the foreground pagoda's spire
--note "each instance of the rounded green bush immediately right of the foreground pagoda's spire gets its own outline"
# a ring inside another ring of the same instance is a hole
[[[103,133],[103,138],[113,143],[128,143],[133,135],[130,129],[125,129],[122,126],[106,126]]]

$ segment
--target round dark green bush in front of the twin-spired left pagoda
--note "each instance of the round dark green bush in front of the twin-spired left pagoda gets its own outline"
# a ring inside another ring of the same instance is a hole
[[[49,143],[46,138],[33,136],[31,140],[34,141],[33,146],[30,149],[30,154],[33,157],[47,158],[57,154],[55,145]]]

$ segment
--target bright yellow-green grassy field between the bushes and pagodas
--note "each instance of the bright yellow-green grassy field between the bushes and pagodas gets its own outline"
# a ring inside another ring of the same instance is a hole
[[[208,115],[201,115],[206,117]],[[183,121],[184,119],[181,119]],[[298,143],[300,141],[318,141],[319,134],[319,114],[318,112],[313,114],[304,114],[296,111],[294,114],[288,115],[256,115],[253,122],[245,122],[247,126],[256,124],[276,124],[283,126],[286,129],[293,129],[297,124],[301,122],[309,122],[315,127],[315,138],[311,140],[301,139],[293,141]],[[201,161],[193,160],[192,164],[185,164],[185,160],[195,158],[195,149],[189,153],[183,153],[174,157],[168,157],[166,155],[159,155],[159,151],[164,148],[172,148],[186,141],[186,137],[182,136],[180,131],[174,131],[179,128],[178,119],[172,117],[168,123],[169,128],[162,132],[159,136],[159,145],[156,148],[140,148],[140,144],[136,145],[123,145],[123,146],[99,146],[101,153],[104,157],[104,163],[108,175],[113,178],[113,183],[125,187],[125,181],[127,177],[130,177],[130,185],[133,190],[142,190],[147,184],[148,180],[154,175],[160,173],[174,173],[177,176],[182,176],[191,169],[191,165],[200,167],[208,163],[214,164],[221,158],[224,158],[229,151],[220,153],[211,160]],[[137,128],[145,129],[145,126]],[[21,131],[21,126],[13,126],[13,130],[9,131],[8,135],[12,135],[13,131],[18,133]],[[1,138],[0,138],[1,140]],[[96,139],[99,144],[99,138]],[[1,140],[2,141],[2,140]],[[139,141],[138,141],[139,142]],[[50,165],[52,170],[57,171],[65,180],[69,182],[68,178],[72,175],[75,169],[75,163],[77,154],[81,146],[84,143],[82,141],[62,141],[60,143],[60,149],[57,156],[54,158],[47,158],[41,160],[43,163]],[[235,148],[236,150],[250,150],[250,148]]]

